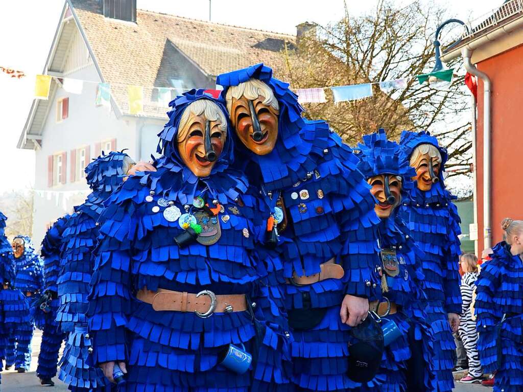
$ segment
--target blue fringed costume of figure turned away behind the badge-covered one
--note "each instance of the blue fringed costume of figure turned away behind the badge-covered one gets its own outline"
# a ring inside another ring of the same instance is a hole
[[[67,332],[67,338],[59,378],[73,391],[111,389],[109,380],[93,362],[85,313],[104,201],[122,183],[130,164],[128,160],[127,154],[111,151],[85,168],[87,184],[93,192],[84,204],[75,207],[62,234],[61,271],[57,281],[60,308],[56,320],[61,330]]]

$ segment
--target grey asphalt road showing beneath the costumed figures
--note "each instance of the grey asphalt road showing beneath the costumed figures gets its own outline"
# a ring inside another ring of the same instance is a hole
[[[68,389],[58,377],[54,377],[54,387],[42,387],[40,379],[36,376],[38,365],[38,354],[40,353],[40,342],[42,332],[35,331],[32,341],[32,361],[30,371],[27,373],[17,373],[13,369],[2,372],[2,392],[66,392]],[[492,388],[487,388],[477,384],[461,384],[456,382],[454,392],[491,392]]]

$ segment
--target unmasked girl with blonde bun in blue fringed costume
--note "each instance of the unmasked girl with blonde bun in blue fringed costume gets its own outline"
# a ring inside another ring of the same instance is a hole
[[[476,282],[477,348],[484,372],[497,369],[494,392],[523,392],[523,220],[502,221]]]

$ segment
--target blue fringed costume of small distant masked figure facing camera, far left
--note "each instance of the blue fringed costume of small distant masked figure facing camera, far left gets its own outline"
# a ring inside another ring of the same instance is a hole
[[[33,299],[43,289],[43,265],[29,237],[17,236],[14,240],[23,241],[25,250],[18,259],[15,258],[16,273],[13,286],[27,297],[31,306],[31,319],[29,322],[20,322],[15,328],[15,333],[10,335],[6,367],[14,364],[15,369],[27,371],[31,364],[31,340],[35,328]]]

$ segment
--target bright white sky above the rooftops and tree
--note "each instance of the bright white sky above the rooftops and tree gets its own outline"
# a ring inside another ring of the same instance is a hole
[[[0,66],[41,73],[65,0],[0,2]],[[406,0],[391,0],[407,5]],[[295,33],[303,21],[326,24],[343,15],[343,0],[211,0],[212,21],[263,30]],[[503,1],[434,0],[449,15],[463,20],[481,16]],[[349,12],[372,10],[376,0],[347,0]],[[138,0],[138,8],[196,19],[209,17],[209,0]],[[144,43],[145,44],[145,43]],[[16,144],[29,113],[33,80],[12,80],[0,74],[0,194],[30,186],[35,177],[32,150]]]

